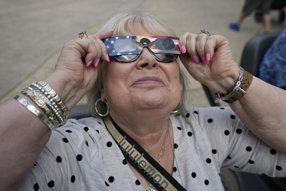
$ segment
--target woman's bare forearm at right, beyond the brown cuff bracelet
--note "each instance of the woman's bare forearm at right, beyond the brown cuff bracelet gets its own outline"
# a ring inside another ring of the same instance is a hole
[[[229,106],[260,139],[286,153],[285,90],[253,77],[246,94]]]

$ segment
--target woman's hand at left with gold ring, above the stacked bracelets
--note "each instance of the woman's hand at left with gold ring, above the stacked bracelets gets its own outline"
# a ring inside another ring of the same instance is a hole
[[[44,79],[63,99],[69,110],[93,87],[100,60],[109,62],[102,40],[112,35],[111,30],[89,35],[87,39],[68,41],[63,46],[55,71]]]

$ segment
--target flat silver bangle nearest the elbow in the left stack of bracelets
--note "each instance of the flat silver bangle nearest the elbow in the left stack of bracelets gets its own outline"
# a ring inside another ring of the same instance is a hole
[[[43,121],[43,123],[46,124],[46,126],[48,126],[50,128],[50,130],[53,130],[55,128],[52,121],[50,121],[48,118],[46,118],[35,106],[30,104],[27,100],[25,100],[24,98],[22,98],[18,95],[15,96],[14,99],[17,100],[22,105],[24,105],[24,107],[26,107],[29,111],[34,113],[38,118],[40,118]]]

